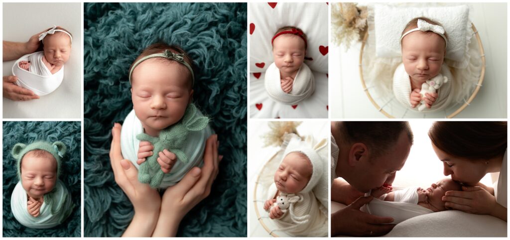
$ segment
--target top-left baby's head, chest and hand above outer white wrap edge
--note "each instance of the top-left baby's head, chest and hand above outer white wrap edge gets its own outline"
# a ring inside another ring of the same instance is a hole
[[[19,67],[38,75],[52,75],[64,67],[71,54],[71,34],[54,26],[39,36],[43,51],[30,55],[28,61],[19,61]]]

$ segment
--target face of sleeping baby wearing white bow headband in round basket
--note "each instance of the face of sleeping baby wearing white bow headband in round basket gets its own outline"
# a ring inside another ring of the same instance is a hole
[[[419,82],[435,77],[441,71],[445,56],[445,40],[437,35],[415,31],[402,39],[402,62],[405,72]]]

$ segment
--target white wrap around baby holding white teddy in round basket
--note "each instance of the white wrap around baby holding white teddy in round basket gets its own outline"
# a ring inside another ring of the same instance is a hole
[[[454,86],[453,83],[453,75],[451,74],[450,70],[448,69],[448,66],[443,63],[443,66],[441,67],[441,74],[443,76],[446,76],[449,81],[444,83],[441,88],[437,91],[439,94],[439,97],[436,99],[436,102],[432,104],[432,107],[430,109],[425,108],[421,112],[434,112],[439,111],[447,108],[452,102],[455,94],[453,93]],[[404,64],[398,65],[397,69],[395,70],[395,73],[393,75],[393,93],[395,94],[395,97],[397,100],[402,103],[407,109],[413,110],[415,112],[418,112],[418,107],[413,108],[411,105],[411,79],[409,78],[409,74],[405,72]]]

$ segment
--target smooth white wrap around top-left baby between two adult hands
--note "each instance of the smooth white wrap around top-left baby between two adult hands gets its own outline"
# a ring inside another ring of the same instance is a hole
[[[44,52],[37,51],[19,58],[12,66],[12,74],[18,77],[16,84],[22,88],[32,90],[39,96],[55,91],[64,79],[64,66],[58,72],[52,74],[42,62],[42,57],[44,57]],[[20,61],[30,61],[30,71],[20,68]]]

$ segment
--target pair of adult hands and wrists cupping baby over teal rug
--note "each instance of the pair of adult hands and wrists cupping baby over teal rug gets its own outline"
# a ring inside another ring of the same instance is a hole
[[[218,174],[217,135],[209,137],[203,167],[193,168],[161,198],[157,190],[138,181],[138,170],[124,159],[120,150],[121,125],[112,128],[110,161],[115,182],[133,203],[135,216],[123,236],[175,236],[181,220],[191,208],[209,196]]]

